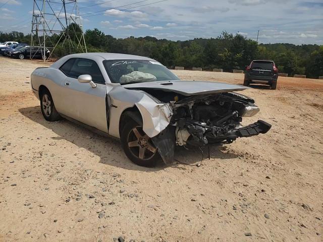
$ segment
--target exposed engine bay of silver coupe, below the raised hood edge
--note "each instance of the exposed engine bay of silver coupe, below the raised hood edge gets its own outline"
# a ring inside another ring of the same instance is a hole
[[[270,129],[268,126],[261,132],[241,133],[242,117],[253,116],[258,111],[253,99],[233,92],[193,96],[174,103],[171,125],[176,126],[176,143],[180,146],[232,143],[238,137]]]

